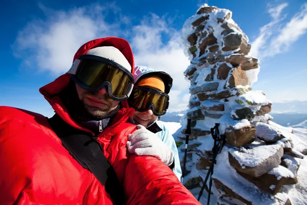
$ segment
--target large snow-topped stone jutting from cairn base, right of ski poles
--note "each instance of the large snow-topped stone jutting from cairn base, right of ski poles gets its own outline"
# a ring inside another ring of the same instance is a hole
[[[283,147],[278,145],[250,146],[228,152],[230,165],[239,172],[259,177],[279,166]]]

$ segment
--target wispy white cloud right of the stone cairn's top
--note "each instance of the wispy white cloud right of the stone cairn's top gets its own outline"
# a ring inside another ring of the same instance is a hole
[[[258,37],[253,41],[250,55],[257,58],[274,56],[287,51],[296,40],[307,30],[307,3],[303,4],[286,24],[282,20],[282,11],[287,3],[268,9],[272,21],[260,28]]]

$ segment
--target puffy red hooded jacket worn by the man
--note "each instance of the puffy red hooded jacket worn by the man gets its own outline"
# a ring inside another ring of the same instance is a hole
[[[74,59],[98,46],[118,48],[134,68],[129,44],[116,37],[84,44]],[[57,96],[70,77],[64,74],[40,92],[67,124],[92,133],[70,117]],[[136,126],[126,120],[133,112],[122,108],[97,138],[124,189],[126,204],[200,204],[157,158],[127,152],[127,135]],[[38,113],[0,107],[0,161],[0,204],[114,204],[94,174],[62,146],[47,117]]]

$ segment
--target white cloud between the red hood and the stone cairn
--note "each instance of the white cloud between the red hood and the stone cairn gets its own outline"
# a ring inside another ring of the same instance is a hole
[[[180,31],[171,28],[165,17],[152,14],[150,19],[144,19],[141,25],[134,27],[133,34],[131,45],[135,51],[136,65],[169,73],[173,78],[169,110],[186,109],[188,100],[183,101],[183,95],[188,92],[190,84],[183,72],[190,61],[184,55]],[[163,44],[163,35],[169,38],[166,44]]]

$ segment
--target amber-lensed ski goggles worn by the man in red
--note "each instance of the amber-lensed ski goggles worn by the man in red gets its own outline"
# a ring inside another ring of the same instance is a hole
[[[123,66],[104,57],[81,55],[75,60],[69,73],[72,79],[86,90],[98,91],[107,87],[114,100],[127,99],[133,89],[133,75]]]

